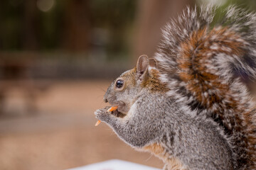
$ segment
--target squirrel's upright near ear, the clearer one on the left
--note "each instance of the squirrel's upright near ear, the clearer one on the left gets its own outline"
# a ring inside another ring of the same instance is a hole
[[[149,58],[146,55],[141,55],[137,61],[137,76],[142,79],[147,72],[149,67]]]

